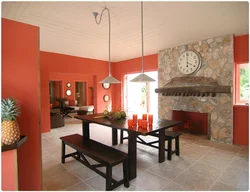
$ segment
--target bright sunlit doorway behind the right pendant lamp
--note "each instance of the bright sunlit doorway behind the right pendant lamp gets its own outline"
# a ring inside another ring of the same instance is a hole
[[[130,82],[139,73],[125,75],[124,108],[128,114],[152,113],[158,114],[158,71],[146,72],[156,81],[149,83]]]

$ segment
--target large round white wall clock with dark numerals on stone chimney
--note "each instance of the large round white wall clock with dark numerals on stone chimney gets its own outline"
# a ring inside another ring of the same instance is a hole
[[[185,51],[181,53],[178,61],[177,68],[185,75],[190,75],[198,71],[201,67],[201,57],[194,51]]]

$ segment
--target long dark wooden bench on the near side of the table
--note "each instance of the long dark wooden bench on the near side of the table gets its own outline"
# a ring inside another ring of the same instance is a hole
[[[67,157],[73,157],[106,178],[106,190],[113,190],[122,184],[127,188],[129,187],[128,155],[126,153],[91,139],[86,140],[79,134],[60,137],[60,139],[62,140],[62,163],[65,163]],[[76,152],[65,154],[65,145],[72,147]],[[92,158],[99,164],[91,165],[85,156]],[[112,178],[112,167],[119,163],[123,163],[123,179],[116,181]],[[104,166],[106,167],[106,173],[97,169]]]

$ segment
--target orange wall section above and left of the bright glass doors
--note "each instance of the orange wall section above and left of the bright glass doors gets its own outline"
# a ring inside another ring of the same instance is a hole
[[[114,108],[116,107],[123,107],[123,83],[124,83],[124,76],[126,74],[132,73],[141,73],[142,70],[142,60],[141,57],[130,59],[126,61],[117,62],[113,65],[114,67],[114,75],[121,79],[121,84],[117,84],[113,92],[113,104]],[[144,56],[144,71],[158,71],[158,54]]]

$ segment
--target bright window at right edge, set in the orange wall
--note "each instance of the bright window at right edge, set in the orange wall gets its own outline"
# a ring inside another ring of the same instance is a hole
[[[235,93],[236,103],[249,102],[249,64],[236,65]]]

